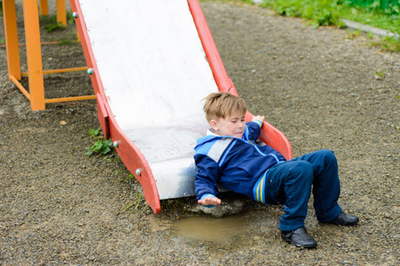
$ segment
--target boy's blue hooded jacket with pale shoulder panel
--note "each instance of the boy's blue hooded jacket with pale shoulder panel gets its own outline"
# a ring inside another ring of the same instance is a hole
[[[257,145],[260,124],[247,122],[244,137],[209,135],[195,147],[196,197],[218,194],[217,184],[254,200],[253,187],[260,177],[284,156],[268,145]]]

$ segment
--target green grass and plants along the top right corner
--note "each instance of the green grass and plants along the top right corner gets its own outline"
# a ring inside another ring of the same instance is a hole
[[[366,2],[373,4],[367,5]],[[345,24],[342,19],[380,27],[397,37],[381,37],[371,44],[380,47],[382,51],[400,51],[399,0],[264,0],[260,6],[284,16],[306,19],[314,27],[343,27]]]

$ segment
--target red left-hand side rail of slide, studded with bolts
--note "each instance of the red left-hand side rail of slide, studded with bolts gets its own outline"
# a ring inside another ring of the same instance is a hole
[[[124,131],[119,128],[116,119],[114,118],[114,115],[108,106],[108,100],[100,79],[96,60],[94,59],[94,54],[90,44],[89,35],[87,35],[87,28],[84,23],[84,18],[80,16],[80,14],[82,14],[82,10],[80,8],[79,0],[70,0],[69,2],[72,7],[72,12],[76,12],[77,14],[76,28],[81,39],[86,63],[88,64],[89,68],[93,69],[91,80],[94,93],[96,94],[96,98],[100,98],[103,103],[103,105],[100,104],[100,109],[98,109],[98,117],[101,118],[105,115],[108,116],[108,126],[107,124],[104,124],[103,128],[103,125],[100,121],[101,128],[103,129],[103,132],[107,132],[109,130],[109,137],[111,137],[111,140],[116,142],[117,145],[116,152],[119,154],[126,168],[128,168],[132,175],[135,176],[140,182],[148,205],[156,214],[159,214],[161,212],[160,199],[158,196],[158,190],[156,188],[156,181],[150,167],[148,166],[148,161],[145,159],[138,147],[132,143],[131,139],[124,134]],[[99,97],[97,94],[99,94]],[[140,175],[137,174],[138,169],[140,170]]]

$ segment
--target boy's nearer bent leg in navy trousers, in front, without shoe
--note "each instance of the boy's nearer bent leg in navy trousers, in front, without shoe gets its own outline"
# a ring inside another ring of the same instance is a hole
[[[312,165],[305,160],[290,160],[269,169],[266,200],[269,204],[284,204],[278,226],[281,231],[304,226],[313,180]]]

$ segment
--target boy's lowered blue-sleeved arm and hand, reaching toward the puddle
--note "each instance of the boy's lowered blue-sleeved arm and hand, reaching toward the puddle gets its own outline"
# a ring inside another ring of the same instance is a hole
[[[220,199],[216,196],[218,194],[218,164],[204,154],[195,154],[195,161],[197,202],[208,207],[219,205]]]

